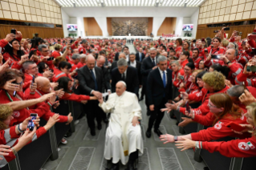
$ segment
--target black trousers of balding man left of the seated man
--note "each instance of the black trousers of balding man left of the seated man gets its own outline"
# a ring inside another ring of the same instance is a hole
[[[84,111],[87,114],[87,123],[91,129],[95,129],[95,118],[97,123],[100,124],[102,115],[105,114],[104,111],[99,107],[98,101],[88,101],[88,103],[84,105]]]

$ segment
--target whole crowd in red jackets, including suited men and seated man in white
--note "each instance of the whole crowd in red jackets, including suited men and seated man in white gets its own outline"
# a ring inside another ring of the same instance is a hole
[[[119,161],[134,169],[143,153],[141,114],[149,116],[148,138],[153,127],[165,144],[175,142],[181,151],[256,156],[256,42],[251,35],[241,39],[234,31],[226,38],[223,28],[214,38],[134,39],[132,53],[125,38],[29,39],[19,31],[7,34],[0,40],[0,167],[55,123],[79,123],[83,115],[91,136],[102,122],[109,123],[104,157],[112,160],[112,170],[119,169]],[[173,97],[173,91],[179,94]],[[81,103],[84,114],[74,119],[53,112],[59,100]],[[195,103],[198,107],[189,107]],[[164,111],[173,110],[186,115],[179,126],[197,122],[209,127],[184,136],[163,135],[159,126]],[[44,127],[40,119],[47,120]],[[209,142],[226,136],[239,140]],[[67,144],[65,138],[61,142]]]

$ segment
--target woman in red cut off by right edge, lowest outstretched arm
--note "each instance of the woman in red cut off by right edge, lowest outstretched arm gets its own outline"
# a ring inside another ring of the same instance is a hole
[[[177,148],[185,151],[189,148],[205,149],[209,152],[220,152],[221,155],[227,157],[254,157],[256,156],[256,103],[251,103],[247,108],[246,121],[250,126],[246,125],[246,129],[254,131],[250,138],[244,140],[230,140],[227,142],[201,142],[189,139],[177,141]],[[245,127],[245,125],[243,125]]]

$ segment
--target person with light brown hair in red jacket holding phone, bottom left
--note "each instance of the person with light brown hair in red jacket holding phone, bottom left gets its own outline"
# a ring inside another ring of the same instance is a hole
[[[59,119],[59,115],[52,116],[47,124],[44,127],[36,128],[39,125],[39,117],[38,119],[33,120],[35,123],[35,127],[33,132],[30,132],[27,128],[29,123],[29,118],[26,118],[22,123],[19,123],[16,126],[12,126],[10,128],[10,120],[14,119],[13,110],[10,106],[2,104],[0,105],[0,144],[9,145],[11,148],[9,152],[6,152],[4,159],[7,162],[15,159],[15,154],[21,148],[23,148],[26,144],[30,144],[30,142],[37,140],[40,136],[43,136]],[[26,131],[26,132],[25,132]],[[25,132],[22,136],[20,133]],[[4,164],[0,166],[3,167]]]

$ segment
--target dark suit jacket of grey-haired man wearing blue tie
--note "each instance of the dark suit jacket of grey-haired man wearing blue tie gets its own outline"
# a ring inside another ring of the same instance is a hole
[[[169,69],[166,71],[167,84],[165,87],[158,68],[149,73],[147,81],[147,97],[149,105],[160,105],[164,95],[165,102],[172,99],[172,71]]]

